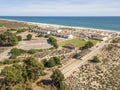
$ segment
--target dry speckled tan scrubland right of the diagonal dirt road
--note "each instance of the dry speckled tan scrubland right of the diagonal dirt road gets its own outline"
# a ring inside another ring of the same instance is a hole
[[[67,90],[120,90],[120,37],[116,39],[101,49],[100,63],[88,61],[66,79]]]

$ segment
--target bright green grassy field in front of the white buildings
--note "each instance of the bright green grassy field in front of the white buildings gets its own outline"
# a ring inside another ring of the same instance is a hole
[[[89,39],[88,41],[91,41],[94,44],[96,44],[98,42],[97,40],[93,40],[93,39]],[[58,42],[58,44],[59,44],[60,47],[66,45],[66,44],[72,44],[75,47],[80,48],[80,47],[83,47],[86,42],[87,41],[85,41],[82,38],[74,38],[74,39],[70,39],[70,40],[65,40],[65,41],[62,41],[62,42]]]

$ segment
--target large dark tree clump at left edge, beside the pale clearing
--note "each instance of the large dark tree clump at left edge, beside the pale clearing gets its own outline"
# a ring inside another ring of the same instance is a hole
[[[5,32],[0,34],[0,46],[14,46],[20,41],[20,36],[17,37],[15,34],[10,32]]]

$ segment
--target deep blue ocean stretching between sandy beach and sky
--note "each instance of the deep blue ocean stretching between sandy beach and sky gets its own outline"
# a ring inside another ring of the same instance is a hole
[[[65,26],[120,31],[120,17],[42,17],[42,16],[0,16],[1,19],[20,20]]]

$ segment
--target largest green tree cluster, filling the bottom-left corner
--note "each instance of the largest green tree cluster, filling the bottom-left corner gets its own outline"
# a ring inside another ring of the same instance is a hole
[[[4,76],[1,90],[32,90],[31,83],[44,74],[44,66],[35,58],[29,57],[23,65],[14,64],[5,67],[1,75]]]

